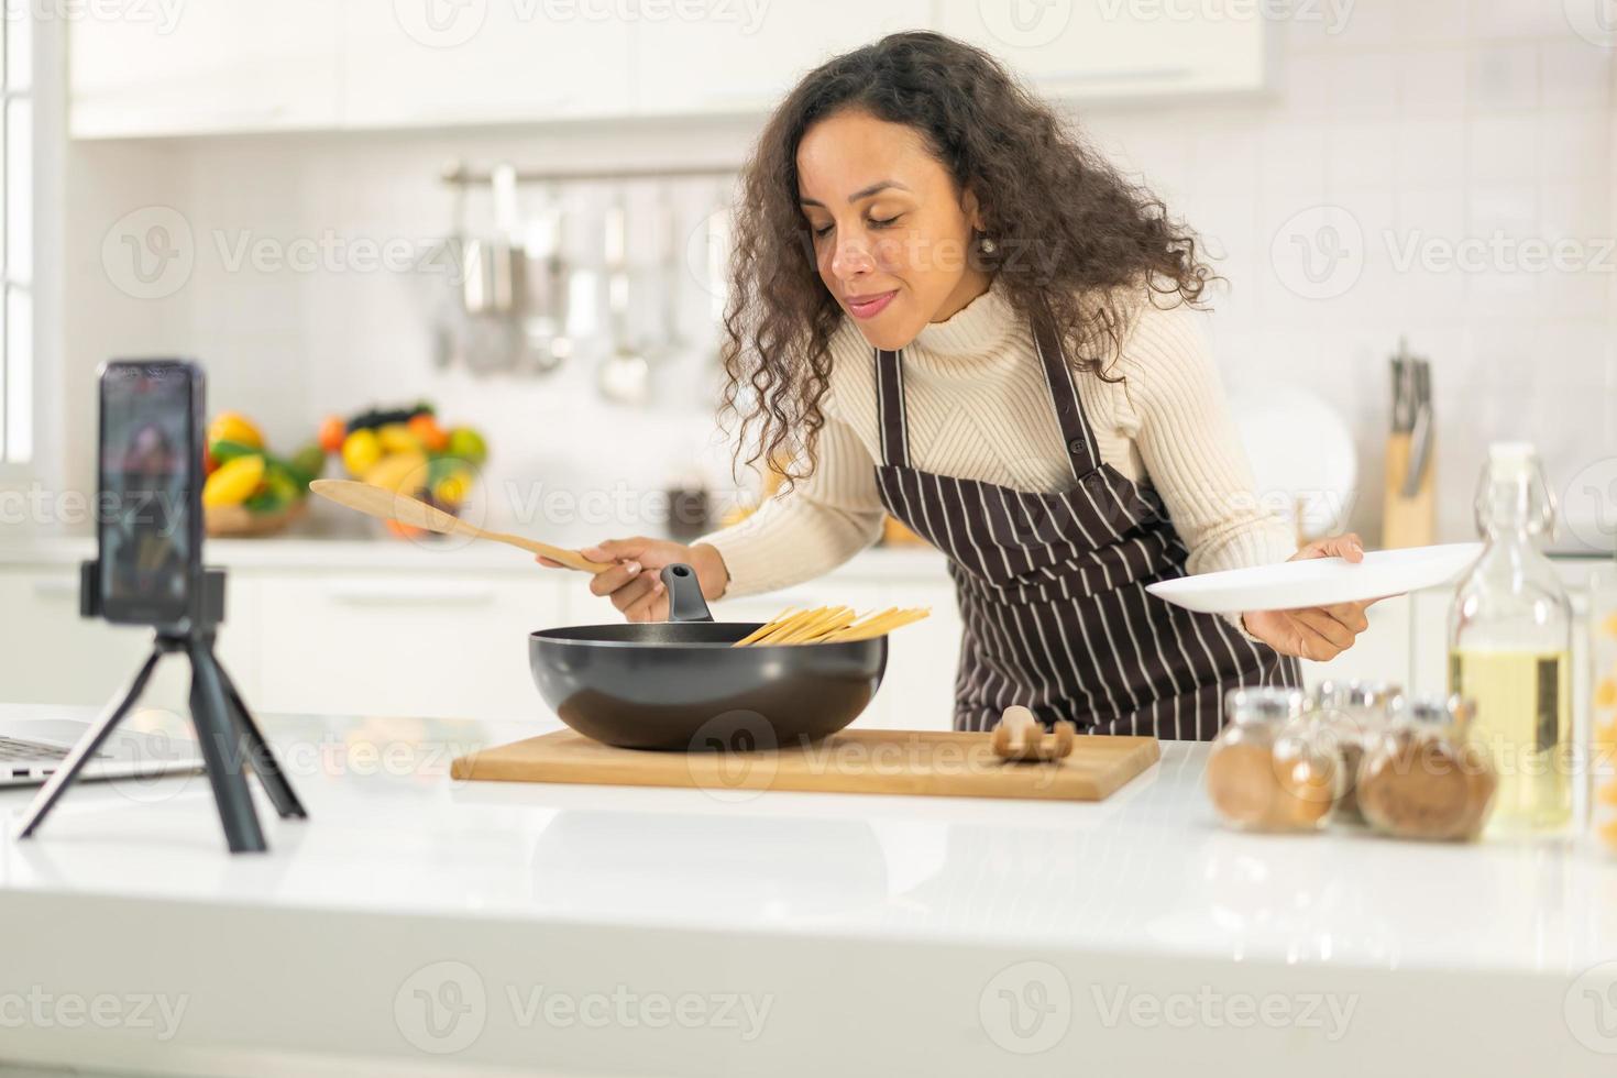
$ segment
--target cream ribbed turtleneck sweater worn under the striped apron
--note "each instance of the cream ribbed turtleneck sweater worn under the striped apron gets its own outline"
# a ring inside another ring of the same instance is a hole
[[[726,598],[818,577],[881,535],[872,347],[844,317],[830,349],[813,474],[745,520],[697,540],[724,558]],[[1156,488],[1190,550],[1188,572],[1269,564],[1297,551],[1289,525],[1258,503],[1190,310],[1142,305],[1108,375],[1124,381],[1075,373],[1101,459]],[[1028,491],[1072,485],[1032,326],[998,283],[904,349],[904,399],[912,467]],[[1239,617],[1229,621],[1240,629]]]

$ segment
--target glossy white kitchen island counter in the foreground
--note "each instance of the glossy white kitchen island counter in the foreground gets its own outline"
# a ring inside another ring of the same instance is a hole
[[[737,802],[446,777],[456,755],[534,724],[265,726],[310,810],[281,823],[260,800],[268,855],[223,852],[201,776],[86,785],[37,840],[8,827],[0,923],[27,931],[6,933],[0,1023],[5,992],[186,1009],[160,1042],[57,1021],[5,1030],[0,1057],[194,1073],[432,1060],[1182,1075],[1239,1052],[1243,1073],[1294,1075],[1363,1073],[1397,1044],[1407,1073],[1617,1063],[1601,1054],[1617,1052],[1617,991],[1611,1013],[1585,1015],[1617,978],[1588,973],[1617,960],[1617,858],[1583,840],[1232,834],[1200,789],[1205,747],[1180,743],[1098,805]],[[27,797],[0,794],[11,826]],[[681,996],[768,1015],[568,1018],[614,992],[645,1015]],[[535,1010],[547,994],[561,1010]],[[429,999],[443,1021],[429,1023]],[[1248,1005],[1279,1021],[1243,1026]]]

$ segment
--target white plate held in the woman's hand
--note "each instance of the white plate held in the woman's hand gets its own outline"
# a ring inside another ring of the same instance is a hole
[[[1378,550],[1358,564],[1310,558],[1163,580],[1145,590],[1201,614],[1363,603],[1447,583],[1470,569],[1481,553],[1481,543]]]

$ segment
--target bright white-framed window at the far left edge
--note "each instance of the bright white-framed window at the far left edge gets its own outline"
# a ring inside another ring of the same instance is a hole
[[[34,454],[34,16],[0,18],[0,464]]]

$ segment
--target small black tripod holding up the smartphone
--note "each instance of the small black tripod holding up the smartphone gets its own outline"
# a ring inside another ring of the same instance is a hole
[[[252,792],[247,789],[247,764],[264,784],[275,811],[283,819],[307,818],[298,794],[281,773],[275,753],[252,721],[247,705],[230,680],[230,674],[213,656],[213,634],[225,614],[225,571],[205,569],[202,587],[202,614],[186,629],[158,629],[147,656],[129,687],[102,713],[91,731],[73,747],[45,789],[39,792],[23,819],[19,839],[26,839],[45,821],[57,800],[78,777],[84,764],[107,742],[113,729],[146,692],[146,684],[157,669],[158,659],[171,651],[181,651],[191,661],[191,724],[196,727],[197,745],[207,766],[213,802],[218,805],[220,823],[225,824],[225,840],[231,853],[260,853],[267,850],[259,815],[252,808]],[[97,566],[87,561],[81,566],[81,613],[95,616]]]

